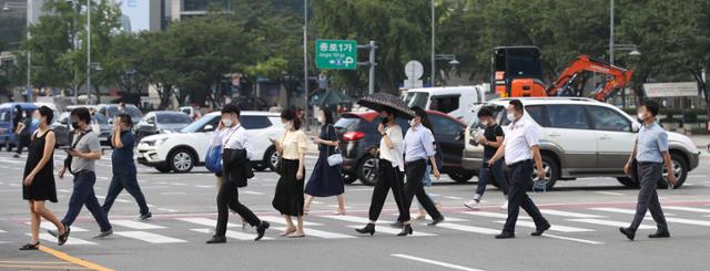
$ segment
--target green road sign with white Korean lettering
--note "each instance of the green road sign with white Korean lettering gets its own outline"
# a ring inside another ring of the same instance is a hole
[[[315,65],[318,69],[355,70],[357,43],[352,40],[316,40]]]

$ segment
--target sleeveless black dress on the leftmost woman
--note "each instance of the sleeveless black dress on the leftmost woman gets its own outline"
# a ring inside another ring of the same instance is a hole
[[[43,135],[34,134],[30,143],[30,152],[28,152],[27,163],[24,164],[24,175],[27,177],[42,159],[44,154],[44,144],[47,144],[47,134],[54,133],[47,131]],[[34,176],[30,186],[22,186],[22,199],[27,200],[49,200],[57,202],[57,185],[54,184],[54,150],[50,154],[49,161]]]

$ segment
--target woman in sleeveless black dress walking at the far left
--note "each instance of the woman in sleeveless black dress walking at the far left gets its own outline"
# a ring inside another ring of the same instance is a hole
[[[22,198],[28,200],[30,216],[32,217],[32,237],[30,243],[24,244],[20,250],[39,249],[40,222],[42,218],[57,226],[60,237],[64,236],[65,227],[59,219],[44,207],[44,201],[57,202],[57,186],[54,185],[54,132],[49,128],[49,123],[54,117],[54,112],[47,106],[41,106],[32,113],[32,123],[38,125],[37,132],[32,135],[30,152],[28,152],[27,164],[24,164],[24,179],[22,181]],[[60,240],[59,246],[65,239]]]

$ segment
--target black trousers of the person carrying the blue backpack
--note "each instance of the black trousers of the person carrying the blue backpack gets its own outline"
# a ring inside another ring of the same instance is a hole
[[[220,187],[220,192],[217,194],[217,227],[215,236],[223,237],[226,233],[226,222],[230,217],[229,209],[242,216],[253,227],[262,222],[252,210],[240,202],[240,194],[234,181],[225,179],[222,181],[222,187]]]

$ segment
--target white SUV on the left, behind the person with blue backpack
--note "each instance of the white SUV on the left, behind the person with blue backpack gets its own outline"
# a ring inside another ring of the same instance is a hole
[[[220,118],[220,112],[214,112],[179,133],[143,137],[138,145],[138,161],[155,167],[161,173],[187,173],[195,166],[204,165]],[[241,121],[254,148],[254,169],[273,169],[278,160],[278,153],[268,138],[280,138],[284,133],[280,115],[245,111],[241,114]]]

